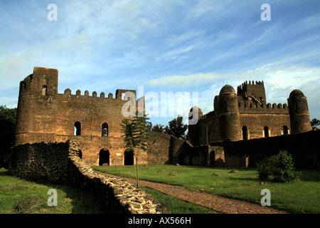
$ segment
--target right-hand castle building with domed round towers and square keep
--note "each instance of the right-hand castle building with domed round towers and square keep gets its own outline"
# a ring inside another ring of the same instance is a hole
[[[203,114],[198,107],[198,123],[189,124],[188,140],[193,145],[210,145],[224,140],[250,140],[311,130],[308,103],[300,90],[293,90],[284,103],[267,103],[262,82],[242,83],[238,92],[223,86],[213,100],[213,111]],[[196,114],[193,114],[196,115]],[[191,116],[191,119],[193,116]]]

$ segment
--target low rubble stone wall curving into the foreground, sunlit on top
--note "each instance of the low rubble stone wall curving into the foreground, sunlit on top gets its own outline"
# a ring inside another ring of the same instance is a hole
[[[166,208],[152,195],[122,179],[99,175],[78,157],[76,141],[17,145],[11,150],[9,172],[64,182],[95,195],[110,214],[162,214]]]

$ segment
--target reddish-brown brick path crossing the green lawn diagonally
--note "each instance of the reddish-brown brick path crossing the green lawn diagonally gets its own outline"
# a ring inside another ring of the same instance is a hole
[[[132,178],[119,177],[105,172],[96,172],[100,175],[117,177],[126,180],[127,182],[136,184],[136,180]],[[252,204],[241,200],[223,198],[208,193],[193,192],[186,190],[184,187],[175,185],[166,185],[145,180],[140,180],[139,183],[141,186],[152,188],[159,192],[163,192],[166,195],[171,195],[172,197],[182,199],[186,202],[192,202],[215,212],[224,214],[287,214],[287,212],[270,207],[262,207],[260,204]]]

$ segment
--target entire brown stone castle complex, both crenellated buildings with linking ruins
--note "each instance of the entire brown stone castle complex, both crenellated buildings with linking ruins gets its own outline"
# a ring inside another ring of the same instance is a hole
[[[69,88],[60,94],[58,70],[35,67],[20,83],[16,145],[76,140],[80,157],[88,165],[132,165],[133,155],[124,147],[120,127],[122,108],[128,102],[122,93],[127,92],[136,94],[135,90],[118,89],[115,98],[112,93],[106,98],[105,93],[90,96],[87,90],[84,95],[80,90],[73,95]],[[141,99],[131,100],[137,109],[144,108]],[[224,86],[213,100],[212,112],[203,115],[198,107],[191,111],[195,109],[198,123],[188,126],[188,140],[151,132],[150,149],[141,156],[141,164],[218,165],[227,155],[217,142],[252,141],[311,130],[304,94],[293,90],[288,105],[271,105],[266,102],[263,82],[245,82],[238,86],[238,93]],[[248,155],[244,157],[246,160]]]

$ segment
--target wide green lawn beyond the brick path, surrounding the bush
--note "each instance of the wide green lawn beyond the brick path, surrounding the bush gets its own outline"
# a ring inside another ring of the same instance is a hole
[[[101,172],[134,177],[133,166],[92,167]],[[230,173],[230,170],[239,173]],[[159,172],[162,170],[162,172]],[[169,176],[170,172],[178,176]],[[263,189],[271,192],[271,207],[292,213],[320,213],[320,171],[302,171],[300,180],[291,183],[265,182],[261,185],[256,168],[193,167],[175,165],[139,165],[140,180],[180,185],[188,190],[201,190],[223,197],[243,199],[260,204]],[[218,176],[213,175],[218,174]]]

